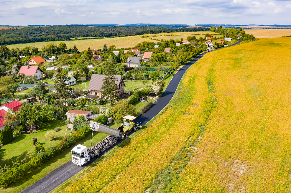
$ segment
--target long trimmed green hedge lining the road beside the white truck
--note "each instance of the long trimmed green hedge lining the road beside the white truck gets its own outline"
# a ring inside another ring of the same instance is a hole
[[[90,131],[90,128],[87,126],[79,128],[75,133],[65,136],[60,143],[48,148],[45,151],[41,151],[35,157],[30,159],[30,161],[28,161],[27,163],[11,168],[6,172],[2,173],[0,175],[0,186],[7,187],[9,184],[23,177],[29,171],[32,171],[53,156],[72,146],[76,141],[80,141],[81,139],[86,137],[89,133],[91,133]]]

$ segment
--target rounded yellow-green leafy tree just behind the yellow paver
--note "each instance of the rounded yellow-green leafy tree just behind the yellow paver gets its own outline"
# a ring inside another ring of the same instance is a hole
[[[111,110],[114,123],[121,123],[122,117],[132,115],[135,110],[134,105],[129,104],[127,100],[119,100]]]

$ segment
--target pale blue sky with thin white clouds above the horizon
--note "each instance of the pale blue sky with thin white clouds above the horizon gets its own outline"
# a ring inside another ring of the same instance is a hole
[[[291,1],[0,0],[0,25],[291,24]]]

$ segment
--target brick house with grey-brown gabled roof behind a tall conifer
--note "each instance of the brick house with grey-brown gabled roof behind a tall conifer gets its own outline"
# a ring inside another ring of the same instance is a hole
[[[122,97],[122,94],[124,93],[124,81],[121,76],[114,75],[116,78],[115,84],[118,88],[119,96]],[[96,95],[99,98],[102,98],[102,90],[101,87],[103,85],[103,79],[105,78],[105,75],[101,74],[92,74],[91,80],[88,86],[88,90],[90,91],[91,95]]]

